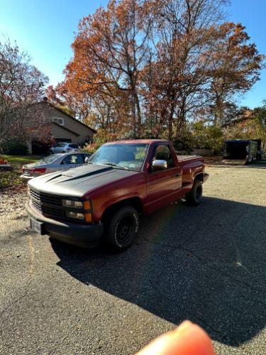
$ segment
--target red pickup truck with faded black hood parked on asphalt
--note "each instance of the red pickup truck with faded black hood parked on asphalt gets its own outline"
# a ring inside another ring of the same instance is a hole
[[[170,141],[116,141],[82,167],[28,182],[26,209],[40,234],[84,247],[104,239],[122,251],[133,243],[141,215],[181,198],[199,204],[208,176],[204,158],[177,157]]]

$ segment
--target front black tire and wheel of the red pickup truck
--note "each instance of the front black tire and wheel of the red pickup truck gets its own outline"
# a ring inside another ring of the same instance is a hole
[[[105,241],[112,251],[123,251],[133,243],[140,217],[132,206],[124,206],[106,220]]]

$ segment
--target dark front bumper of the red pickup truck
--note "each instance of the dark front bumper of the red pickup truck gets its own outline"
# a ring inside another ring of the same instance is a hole
[[[104,226],[102,224],[78,224],[56,221],[36,212],[29,203],[26,204],[26,212],[28,217],[38,222],[43,222],[43,234],[48,234],[52,238],[64,241],[67,244],[93,248],[98,246],[101,236],[104,234]]]

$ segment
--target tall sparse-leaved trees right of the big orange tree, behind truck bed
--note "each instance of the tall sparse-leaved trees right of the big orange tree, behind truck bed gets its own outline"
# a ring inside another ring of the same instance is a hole
[[[206,67],[209,57],[204,55],[211,45],[210,28],[223,17],[226,1],[170,0],[154,1],[156,16],[156,60],[148,75],[148,100],[160,115],[158,132],[167,129],[178,137],[184,132],[187,114],[206,105]],[[150,83],[152,88],[150,89]],[[155,98],[156,97],[156,98]]]

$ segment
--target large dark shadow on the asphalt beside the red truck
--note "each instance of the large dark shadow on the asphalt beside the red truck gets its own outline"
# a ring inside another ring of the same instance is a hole
[[[265,215],[266,207],[205,197],[199,207],[179,202],[143,218],[136,243],[120,254],[51,243],[58,266],[82,283],[239,346],[266,323]]]

